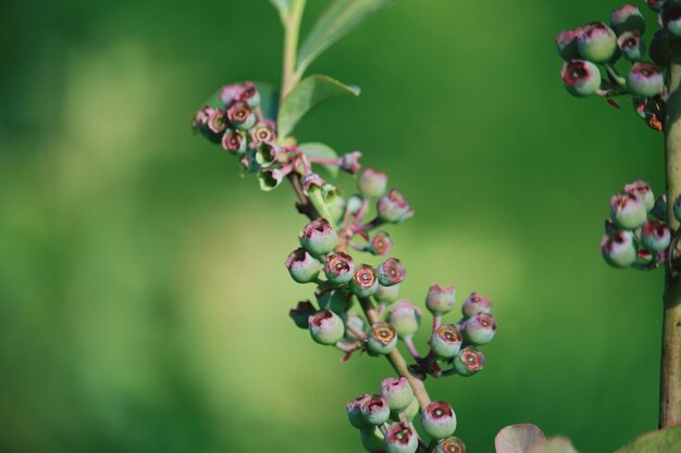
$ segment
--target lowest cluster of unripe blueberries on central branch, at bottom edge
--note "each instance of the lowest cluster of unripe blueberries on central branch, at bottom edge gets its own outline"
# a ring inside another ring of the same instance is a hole
[[[426,444],[417,432],[413,420],[419,402],[404,377],[386,378],[381,393],[360,394],[346,405],[350,424],[359,429],[369,452],[414,453]],[[433,453],[466,453],[466,444],[454,437],[457,418],[446,401],[433,401],[421,413],[421,426],[431,438]]]

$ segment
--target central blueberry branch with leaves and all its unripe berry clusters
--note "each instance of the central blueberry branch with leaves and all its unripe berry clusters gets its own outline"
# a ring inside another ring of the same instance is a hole
[[[394,1],[335,0],[300,45],[306,1],[271,2],[284,26],[281,88],[250,81],[227,85],[196,113],[193,127],[236,158],[244,175],[255,176],[262,190],[286,184],[297,196],[297,210],[308,223],[298,234],[299,247],[285,265],[294,281],[313,288],[314,303],[301,301],[290,310],[295,325],[308,330],[314,342],[338,351],[342,361],[366,353],[385,357],[395,369],[396,376],[386,377],[380,392],[361,394],[346,406],[364,449],[463,453],[465,443],[454,437],[457,417],[453,406],[443,400],[432,401],[424,380],[469,377],[483,369],[485,357],[480,347],[492,341],[497,327],[492,302],[473,292],[462,304],[460,317],[445,319],[455,306],[455,289],[433,285],[425,297],[425,307],[433,317],[429,348],[421,353],[413,337],[421,326],[422,311],[400,299],[407,272],[397,257],[392,257],[393,240],[384,229],[413,215],[409,202],[398,189],[388,188],[384,173],[362,168],[359,151],[338,155],[327,144],[302,142],[292,135],[319,102],[359,93],[359,89],[326,75],[305,77],[308,65]],[[356,177],[357,193],[345,197],[332,183],[340,172]],[[421,433],[414,426],[417,417]]]

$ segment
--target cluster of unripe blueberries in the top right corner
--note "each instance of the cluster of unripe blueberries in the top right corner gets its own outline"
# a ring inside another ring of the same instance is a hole
[[[667,95],[664,68],[668,64],[670,42],[681,37],[681,2],[646,0],[646,3],[658,13],[663,26],[649,46],[643,40],[645,20],[631,4],[614,10],[609,25],[592,22],[560,33],[556,45],[566,61],[560,75],[570,93],[602,96],[615,106],[619,105],[611,98],[630,95],[639,116],[652,128],[663,130]],[[626,76],[616,67],[622,58],[631,63]],[[598,65],[604,67],[606,77]]]

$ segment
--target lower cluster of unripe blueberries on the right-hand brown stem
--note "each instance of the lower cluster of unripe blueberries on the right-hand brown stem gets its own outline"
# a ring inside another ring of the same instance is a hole
[[[673,204],[673,215],[681,219],[681,198]],[[676,235],[667,225],[667,196],[656,200],[649,184],[639,180],[610,200],[600,251],[615,267],[653,269],[676,255]]]

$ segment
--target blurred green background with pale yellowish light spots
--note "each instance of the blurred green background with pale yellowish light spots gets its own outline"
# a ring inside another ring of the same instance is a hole
[[[327,2],[309,3],[305,29]],[[312,66],[363,93],[297,136],[362,150],[417,211],[391,228],[403,293],[495,301],[485,372],[428,382],[471,452],[513,423],[583,453],[657,424],[663,275],[607,267],[598,242],[611,193],[663,188],[661,135],[570,98],[553,41],[619,5],[404,0]],[[344,403],[391,369],[293,326],[312,289],[283,266],[293,193],[189,128],[221,85],[278,80],[270,4],[0,11],[0,451],[361,451]]]

